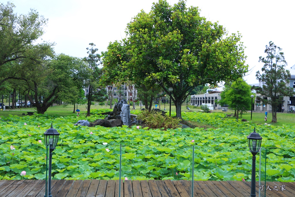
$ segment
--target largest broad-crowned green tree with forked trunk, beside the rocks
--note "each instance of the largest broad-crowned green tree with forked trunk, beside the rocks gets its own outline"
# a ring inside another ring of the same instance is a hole
[[[173,87],[181,118],[181,104],[194,87],[235,80],[248,71],[240,38],[201,17],[197,7],[187,8],[185,1],[170,6],[159,0],[127,24],[126,39],[110,43],[104,65],[135,83],[158,83],[167,94]]]

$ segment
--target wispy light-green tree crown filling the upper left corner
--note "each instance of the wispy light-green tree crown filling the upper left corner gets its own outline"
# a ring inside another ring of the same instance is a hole
[[[31,9],[28,14],[14,13],[14,4],[0,4],[0,85],[9,79],[23,79],[20,64],[24,59],[40,65],[47,51],[47,43],[35,45],[34,42],[44,33],[47,19]],[[31,65],[32,66],[32,65]]]

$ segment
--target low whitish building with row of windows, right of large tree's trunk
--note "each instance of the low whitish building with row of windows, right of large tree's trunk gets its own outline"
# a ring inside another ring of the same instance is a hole
[[[191,95],[191,105],[200,107],[204,104],[211,104],[214,109],[220,110],[221,105],[217,103],[221,99],[220,93],[222,92],[221,88],[207,89],[205,94],[200,95]]]

